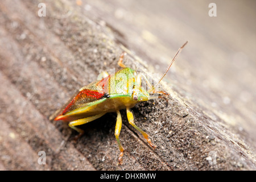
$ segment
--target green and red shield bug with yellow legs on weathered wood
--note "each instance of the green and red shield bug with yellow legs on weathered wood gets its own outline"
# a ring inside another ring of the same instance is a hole
[[[122,118],[119,110],[126,109],[129,123],[143,135],[151,147],[155,148],[156,146],[148,138],[148,134],[135,125],[133,113],[130,111],[130,108],[134,107],[138,102],[148,101],[155,98],[166,98],[168,95],[167,92],[156,90],[155,88],[166,75],[181,49],[186,44],[187,42],[179,48],[174,59],[172,59],[168,68],[154,86],[150,84],[146,76],[142,73],[137,73],[133,69],[127,68],[122,63],[124,56],[124,53],[122,53],[118,61],[118,65],[122,67],[120,71],[115,72],[113,75],[107,75],[105,73],[105,77],[102,78],[102,80],[92,82],[91,84],[82,87],[79,90],[79,93],[72,98],[71,102],[61,110],[61,114],[54,120],[69,122],[68,125],[79,132],[79,135],[77,135],[78,138],[84,131],[76,126],[100,118],[106,113],[116,112],[117,123],[115,125],[115,138],[117,139],[120,150],[118,164],[122,164],[124,149],[119,142],[119,134],[122,125]],[[142,88],[142,78],[146,80],[150,87],[149,90]],[[155,96],[155,94],[158,94],[158,96]]]

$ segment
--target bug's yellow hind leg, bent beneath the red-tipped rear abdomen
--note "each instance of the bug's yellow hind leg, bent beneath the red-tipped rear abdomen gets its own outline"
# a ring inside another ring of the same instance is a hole
[[[84,130],[76,127],[77,125],[84,125],[85,123],[91,122],[95,119],[102,117],[102,115],[104,115],[104,114],[106,114],[106,113],[93,115],[93,116],[87,117],[87,118],[77,119],[75,121],[69,122],[68,126],[70,126],[72,129],[76,130],[79,133],[79,135],[76,137],[76,139],[78,139],[79,137],[81,137],[82,134],[84,134]]]

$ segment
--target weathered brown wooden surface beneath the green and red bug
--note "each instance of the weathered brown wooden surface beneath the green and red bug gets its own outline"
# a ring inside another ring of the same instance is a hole
[[[0,2],[0,169],[2,170],[255,170],[255,2],[215,1]],[[189,41],[162,82],[169,105],[133,108],[114,137],[115,113],[81,126],[49,121],[81,86],[125,64],[161,73]],[[46,165],[38,152],[46,152]],[[210,164],[211,154],[216,163]]]

